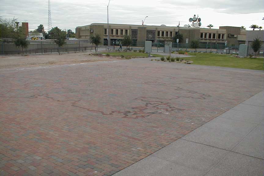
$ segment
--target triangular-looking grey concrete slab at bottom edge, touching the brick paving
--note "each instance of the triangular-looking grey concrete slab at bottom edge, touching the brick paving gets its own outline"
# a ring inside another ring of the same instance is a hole
[[[154,156],[143,160],[113,174],[112,176],[203,176],[205,172]]]

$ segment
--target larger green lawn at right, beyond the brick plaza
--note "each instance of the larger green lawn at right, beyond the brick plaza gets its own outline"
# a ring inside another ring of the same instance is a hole
[[[194,53],[188,54],[194,56]],[[196,53],[196,57],[189,57],[186,59],[192,60],[193,64],[197,65],[264,70],[263,58],[237,58],[229,54]]]

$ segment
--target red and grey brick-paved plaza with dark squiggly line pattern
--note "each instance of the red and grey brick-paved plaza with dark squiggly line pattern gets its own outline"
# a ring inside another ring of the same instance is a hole
[[[111,175],[263,90],[263,71],[131,59],[0,70],[0,174]]]

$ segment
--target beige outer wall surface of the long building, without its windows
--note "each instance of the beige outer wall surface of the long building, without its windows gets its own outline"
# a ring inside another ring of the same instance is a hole
[[[90,29],[93,29],[93,33],[90,33]],[[105,29],[107,30],[106,35],[105,35]],[[155,41],[157,41],[157,39],[172,41],[173,37],[175,36],[175,32],[178,32],[178,27],[146,26],[146,25],[142,27],[142,25],[129,25],[129,24],[109,24],[109,29],[110,29],[110,39],[123,39],[123,36],[125,35],[125,30],[128,30],[128,34],[131,35],[131,29],[137,29],[138,44],[144,43],[144,41],[146,40],[147,30],[155,31],[156,34]],[[111,29],[113,29],[112,35],[111,35]],[[118,30],[118,35],[116,34],[116,29]],[[121,35],[121,30],[123,30],[123,35]],[[158,31],[160,31],[160,36],[158,36]],[[164,36],[161,36],[162,32],[164,32]],[[166,32],[168,32],[167,37],[166,37]],[[170,36],[171,32],[172,32],[172,36]],[[230,33],[239,32],[239,37],[237,37],[236,39],[229,39],[228,32]],[[223,43],[225,42],[225,40],[228,40],[229,44],[232,43],[238,44],[239,43],[238,39],[243,42],[245,38],[244,36],[245,32],[241,31],[240,34],[240,28],[238,27],[220,27],[219,29],[180,27],[180,33],[183,35],[182,43],[185,43],[186,39],[189,39],[189,41],[195,39],[195,40],[200,40],[200,42],[215,42],[215,43],[217,42]],[[200,33],[207,33],[207,37],[204,38],[205,35],[203,34],[203,38],[200,38]],[[108,36],[107,24],[93,23],[90,25],[80,26],[76,28],[76,38],[89,40],[91,34],[99,34],[102,40],[101,42],[103,43],[104,39],[107,39]],[[211,39],[209,39],[209,34],[211,34]],[[216,39],[212,39],[213,34],[216,35],[215,37]],[[218,34],[220,34],[220,39],[218,39]]]

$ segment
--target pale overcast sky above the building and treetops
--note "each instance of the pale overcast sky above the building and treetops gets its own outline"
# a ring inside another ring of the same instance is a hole
[[[107,23],[108,0],[51,0],[52,27],[75,31],[77,26]],[[28,22],[34,30],[43,24],[48,27],[47,0],[1,0],[0,16]],[[146,25],[180,26],[190,24],[189,18],[198,14],[203,28],[219,26],[264,27],[263,0],[111,0],[109,23],[138,24],[149,16]]]

